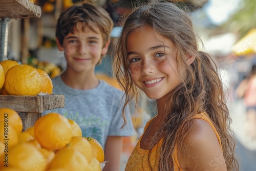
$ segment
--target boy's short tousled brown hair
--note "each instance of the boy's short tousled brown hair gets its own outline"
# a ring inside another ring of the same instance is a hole
[[[60,14],[55,33],[60,45],[63,44],[64,37],[73,32],[74,26],[78,22],[82,23],[82,29],[89,27],[92,31],[95,31],[92,24],[96,24],[103,37],[103,46],[110,39],[113,20],[109,13],[92,1],[83,1],[69,7]]]

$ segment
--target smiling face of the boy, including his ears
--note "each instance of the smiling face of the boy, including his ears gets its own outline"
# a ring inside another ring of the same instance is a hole
[[[57,40],[58,49],[65,53],[67,70],[94,73],[101,55],[105,55],[108,51],[109,44],[106,43],[103,46],[103,38],[99,28],[93,25],[92,27],[96,32],[88,27],[82,30],[82,24],[78,23],[77,27],[74,27],[73,33],[70,32],[65,36],[62,45]]]

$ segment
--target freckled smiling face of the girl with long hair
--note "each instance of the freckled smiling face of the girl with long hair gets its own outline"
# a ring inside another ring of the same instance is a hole
[[[165,97],[182,82],[185,67],[177,65],[174,44],[151,27],[131,32],[126,50],[132,79],[149,98]]]

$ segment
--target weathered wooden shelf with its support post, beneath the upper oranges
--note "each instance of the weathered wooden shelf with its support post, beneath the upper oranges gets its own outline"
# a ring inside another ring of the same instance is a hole
[[[64,95],[38,95],[38,96],[3,96],[0,95],[0,108],[10,108],[16,111],[23,122],[23,131],[33,126],[41,117],[42,112],[64,108]]]

